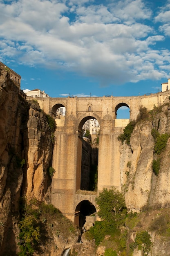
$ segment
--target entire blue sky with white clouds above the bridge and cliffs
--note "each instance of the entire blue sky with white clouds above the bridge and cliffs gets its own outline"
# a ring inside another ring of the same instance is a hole
[[[157,93],[170,0],[0,0],[0,61],[51,97]]]

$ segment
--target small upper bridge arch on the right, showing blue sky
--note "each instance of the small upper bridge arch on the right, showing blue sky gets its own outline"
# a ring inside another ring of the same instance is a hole
[[[130,107],[127,103],[119,103],[115,108],[115,119],[130,119]]]

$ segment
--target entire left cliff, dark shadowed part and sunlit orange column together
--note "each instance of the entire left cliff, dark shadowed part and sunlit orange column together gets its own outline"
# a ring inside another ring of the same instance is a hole
[[[47,118],[2,68],[0,85],[0,255],[15,255],[21,191],[28,199],[47,195],[52,143]]]

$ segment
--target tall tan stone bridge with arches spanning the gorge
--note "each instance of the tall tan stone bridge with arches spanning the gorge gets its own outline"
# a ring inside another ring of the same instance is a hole
[[[96,211],[95,198],[103,187],[123,186],[120,166],[120,141],[117,137],[130,120],[136,119],[139,107],[148,110],[162,105],[170,91],[136,97],[37,98],[40,107],[56,118],[56,110],[66,108],[64,119],[57,121],[52,165],[56,170],[51,202],[70,220],[80,225],[79,217]],[[130,109],[130,119],[116,119],[121,106]],[[98,144],[97,192],[81,191],[82,127],[88,119],[100,124]]]

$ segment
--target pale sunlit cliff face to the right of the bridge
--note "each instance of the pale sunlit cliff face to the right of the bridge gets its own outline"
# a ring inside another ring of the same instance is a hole
[[[130,146],[120,143],[122,191],[128,209],[141,211],[148,207],[167,207],[170,202],[170,139],[160,155],[154,153],[152,129],[159,134],[170,133],[169,99],[154,110],[148,119],[140,120],[130,137]],[[159,174],[152,169],[153,159],[161,159]]]

